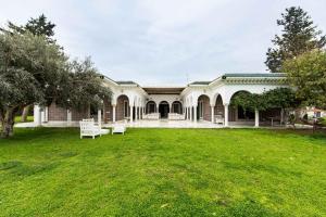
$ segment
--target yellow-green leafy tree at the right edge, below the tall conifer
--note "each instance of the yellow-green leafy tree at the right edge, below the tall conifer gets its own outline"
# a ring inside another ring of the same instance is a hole
[[[283,71],[302,105],[326,110],[326,52],[314,50],[285,61]]]

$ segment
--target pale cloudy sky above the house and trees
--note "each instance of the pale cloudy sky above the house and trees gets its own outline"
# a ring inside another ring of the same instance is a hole
[[[27,3],[28,2],[28,3]],[[225,73],[267,73],[276,20],[300,5],[326,34],[325,0],[0,0],[0,26],[43,13],[72,58],[141,86],[185,86]]]

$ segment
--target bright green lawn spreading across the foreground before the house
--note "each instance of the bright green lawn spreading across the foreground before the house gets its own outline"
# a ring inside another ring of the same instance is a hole
[[[16,129],[0,216],[326,216],[326,137],[263,129]]]

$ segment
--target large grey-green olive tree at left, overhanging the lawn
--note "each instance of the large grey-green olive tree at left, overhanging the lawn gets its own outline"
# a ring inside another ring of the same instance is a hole
[[[73,61],[45,36],[3,31],[0,34],[1,136],[13,135],[14,116],[28,104],[66,108],[99,106],[110,89],[90,59]]]

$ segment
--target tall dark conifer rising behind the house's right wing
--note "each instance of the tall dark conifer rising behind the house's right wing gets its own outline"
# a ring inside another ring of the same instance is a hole
[[[286,9],[277,25],[283,26],[283,34],[272,40],[274,48],[268,48],[265,61],[272,73],[280,73],[284,61],[326,44],[326,36],[317,30],[312,18],[300,7]]]

